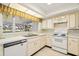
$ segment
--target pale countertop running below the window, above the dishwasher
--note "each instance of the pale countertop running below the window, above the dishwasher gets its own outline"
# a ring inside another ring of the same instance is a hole
[[[0,39],[0,44],[5,44],[8,42],[13,42],[13,41],[22,40],[22,39],[27,39],[27,41],[28,41],[29,39],[36,38],[36,37],[43,36],[43,35],[52,35],[52,34],[50,34],[50,33],[38,33],[37,36],[32,36],[32,37],[24,37],[23,35],[20,35],[20,36],[16,36],[16,37]]]

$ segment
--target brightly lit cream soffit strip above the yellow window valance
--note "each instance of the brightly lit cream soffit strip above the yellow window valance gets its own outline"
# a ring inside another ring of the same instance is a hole
[[[22,6],[22,5],[18,4],[18,3],[3,3],[3,4],[6,5],[6,6],[9,6],[11,8],[17,9],[19,11],[28,13],[28,14],[33,15],[33,16],[36,16],[38,18],[42,18],[42,16],[40,14],[38,14],[38,13],[30,10],[29,8],[24,7],[24,6]]]

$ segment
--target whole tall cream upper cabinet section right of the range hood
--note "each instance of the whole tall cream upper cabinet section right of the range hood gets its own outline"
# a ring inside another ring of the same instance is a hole
[[[79,28],[79,13],[69,14],[68,27],[71,28]]]

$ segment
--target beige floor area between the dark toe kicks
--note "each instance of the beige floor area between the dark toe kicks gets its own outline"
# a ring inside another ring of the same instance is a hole
[[[34,56],[68,56],[68,55],[62,54],[51,48],[45,47],[41,51],[36,53]]]

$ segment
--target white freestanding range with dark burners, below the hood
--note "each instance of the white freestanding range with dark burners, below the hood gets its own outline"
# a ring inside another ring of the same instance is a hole
[[[52,40],[54,50],[67,54],[67,31],[58,30],[54,32]]]

